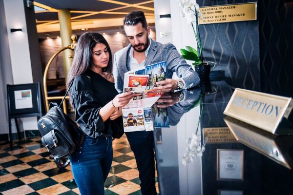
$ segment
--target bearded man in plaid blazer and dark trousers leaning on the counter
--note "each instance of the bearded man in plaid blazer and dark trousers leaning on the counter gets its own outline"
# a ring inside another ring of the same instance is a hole
[[[126,72],[164,60],[167,61],[166,80],[157,82],[154,91],[171,92],[199,84],[198,74],[181,57],[174,45],[161,44],[148,38],[150,27],[142,11],[127,14],[123,26],[130,44],[114,55],[113,75],[119,93],[123,92]],[[172,79],[173,72],[179,79]],[[136,159],[142,194],[156,195],[153,132],[127,132],[126,137]]]

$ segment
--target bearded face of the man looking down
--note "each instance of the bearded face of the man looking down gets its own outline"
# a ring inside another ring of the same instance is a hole
[[[124,26],[124,30],[133,49],[137,52],[145,52],[149,44],[149,26],[145,29],[142,23],[139,22],[135,26]]]

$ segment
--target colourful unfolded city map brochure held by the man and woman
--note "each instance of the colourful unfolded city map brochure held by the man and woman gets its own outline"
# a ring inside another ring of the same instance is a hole
[[[123,107],[124,131],[153,131],[151,106],[163,93],[153,92],[156,82],[166,80],[166,61],[151,64],[125,73],[123,92],[134,97]]]

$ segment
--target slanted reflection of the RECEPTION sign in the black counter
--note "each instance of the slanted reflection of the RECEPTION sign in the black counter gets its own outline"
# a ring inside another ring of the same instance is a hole
[[[239,142],[292,169],[293,136],[275,136],[231,117],[224,120]]]

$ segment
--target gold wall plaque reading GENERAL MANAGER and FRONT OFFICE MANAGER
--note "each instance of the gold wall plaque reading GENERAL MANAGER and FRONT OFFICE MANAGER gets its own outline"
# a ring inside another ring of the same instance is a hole
[[[207,6],[199,8],[203,19],[199,24],[256,20],[256,2]]]

